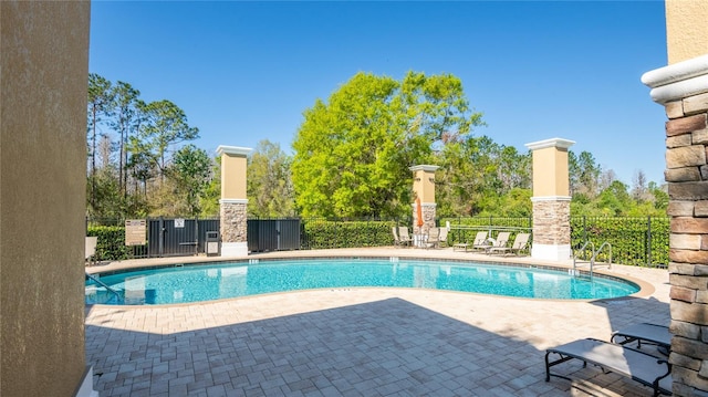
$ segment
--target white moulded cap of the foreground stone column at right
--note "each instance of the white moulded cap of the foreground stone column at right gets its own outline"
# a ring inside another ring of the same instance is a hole
[[[708,92],[708,54],[646,72],[642,83],[652,88],[652,100],[663,105]]]

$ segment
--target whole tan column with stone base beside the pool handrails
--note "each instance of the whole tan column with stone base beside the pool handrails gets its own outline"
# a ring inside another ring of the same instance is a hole
[[[531,257],[571,258],[571,197],[568,148],[573,140],[551,138],[525,146],[533,152],[533,243]]]

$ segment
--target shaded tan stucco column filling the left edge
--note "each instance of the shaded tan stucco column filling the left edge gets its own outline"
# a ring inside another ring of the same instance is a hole
[[[0,396],[97,396],[86,368],[87,1],[0,1]]]

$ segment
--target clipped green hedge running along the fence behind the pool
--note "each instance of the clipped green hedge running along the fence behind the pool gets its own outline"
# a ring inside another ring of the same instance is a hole
[[[527,231],[530,218],[441,218],[440,226],[450,222],[452,231],[448,244],[465,242],[479,230]],[[301,249],[357,248],[392,245],[394,226],[408,224],[399,220],[355,220],[333,221],[302,219]],[[456,229],[462,226],[466,230]],[[512,232],[513,239],[516,232]],[[97,236],[96,258],[98,260],[122,260],[134,258],[133,248],[125,245],[123,226],[88,226],[86,236]],[[669,218],[571,218],[571,247],[579,250],[586,240],[595,250],[603,242],[612,245],[613,263],[632,265],[668,265]],[[597,254],[597,261],[607,261],[610,251],[605,248]]]

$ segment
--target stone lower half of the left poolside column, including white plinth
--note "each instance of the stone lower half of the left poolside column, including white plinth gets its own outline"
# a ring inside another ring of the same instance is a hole
[[[221,257],[248,255],[248,200],[220,200]]]

